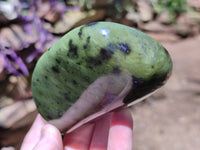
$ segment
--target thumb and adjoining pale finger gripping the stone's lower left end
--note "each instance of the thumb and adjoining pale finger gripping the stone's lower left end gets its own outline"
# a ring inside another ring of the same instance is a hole
[[[26,134],[20,150],[62,150],[63,143],[59,130],[37,115]]]

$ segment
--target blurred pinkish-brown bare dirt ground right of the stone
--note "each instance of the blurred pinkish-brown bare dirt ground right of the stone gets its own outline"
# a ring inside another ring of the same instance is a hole
[[[200,36],[162,42],[173,59],[168,83],[131,108],[133,150],[199,150]]]

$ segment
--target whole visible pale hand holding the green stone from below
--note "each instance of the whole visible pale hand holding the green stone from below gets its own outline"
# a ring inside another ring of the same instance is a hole
[[[127,109],[108,113],[61,138],[39,114],[21,150],[132,150],[132,116]]]

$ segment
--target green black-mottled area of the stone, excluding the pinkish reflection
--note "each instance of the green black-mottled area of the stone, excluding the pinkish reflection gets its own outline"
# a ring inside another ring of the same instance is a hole
[[[93,22],[67,33],[38,61],[32,77],[33,96],[47,120],[59,118],[97,78],[128,71],[133,88],[129,103],[166,80],[172,62],[148,35],[116,23]]]

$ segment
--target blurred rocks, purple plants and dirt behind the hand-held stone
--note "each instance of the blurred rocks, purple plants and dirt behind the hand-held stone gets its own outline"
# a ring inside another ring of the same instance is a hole
[[[0,148],[19,149],[37,114],[30,81],[38,58],[93,21],[137,28],[173,59],[168,83],[130,108],[133,150],[199,150],[200,0],[0,0]]]

